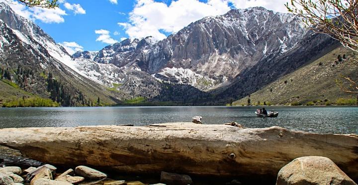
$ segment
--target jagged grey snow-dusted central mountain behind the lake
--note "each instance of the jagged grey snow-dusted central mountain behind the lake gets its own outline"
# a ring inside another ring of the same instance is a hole
[[[99,52],[78,52],[73,57],[76,61],[119,67],[122,72],[117,83],[133,80],[125,75],[127,72],[143,71],[141,75],[153,78],[151,81],[188,85],[207,92],[230,84],[235,76],[258,62],[287,52],[306,32],[299,18],[292,14],[255,7],[205,17],[162,41],[152,37],[127,39]],[[120,87],[121,90],[133,88]],[[162,88],[156,87],[159,91]],[[147,91],[138,93],[158,95]]]

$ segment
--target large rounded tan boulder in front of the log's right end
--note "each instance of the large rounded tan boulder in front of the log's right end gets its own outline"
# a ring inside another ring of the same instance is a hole
[[[294,159],[278,172],[276,185],[357,185],[327,157]]]

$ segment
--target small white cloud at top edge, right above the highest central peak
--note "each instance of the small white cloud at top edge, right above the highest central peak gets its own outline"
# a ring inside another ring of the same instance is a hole
[[[262,6],[266,9],[278,11],[278,12],[288,12],[284,4],[289,0],[229,0],[234,4],[236,8],[248,8],[255,6]]]

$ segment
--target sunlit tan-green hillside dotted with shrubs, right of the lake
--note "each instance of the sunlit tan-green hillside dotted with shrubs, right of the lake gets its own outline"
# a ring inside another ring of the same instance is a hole
[[[356,99],[356,96],[340,90],[335,79],[344,75],[358,80],[357,55],[347,48],[338,47],[251,94],[251,104],[264,104],[265,101],[273,105],[306,105],[308,102],[331,104],[339,98]],[[342,57],[342,61],[338,56]],[[233,105],[246,105],[248,99],[247,96]]]

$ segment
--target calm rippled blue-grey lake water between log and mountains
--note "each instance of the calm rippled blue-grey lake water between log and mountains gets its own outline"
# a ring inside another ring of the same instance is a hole
[[[259,107],[61,107],[0,108],[0,128],[79,126],[104,124],[149,125],[191,122],[202,116],[204,124],[238,122],[245,127],[281,126],[319,133],[358,134],[358,107],[268,107],[277,118],[257,118]]]

